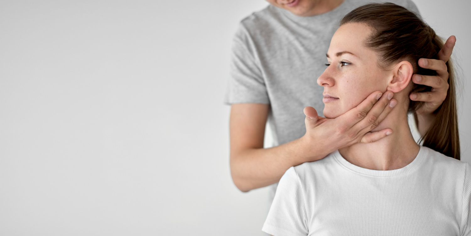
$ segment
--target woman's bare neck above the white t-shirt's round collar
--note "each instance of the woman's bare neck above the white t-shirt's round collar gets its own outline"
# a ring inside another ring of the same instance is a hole
[[[348,162],[371,170],[395,170],[411,163],[420,146],[414,141],[407,122],[407,110],[397,107],[374,131],[391,128],[392,134],[371,143],[357,143],[339,149]]]

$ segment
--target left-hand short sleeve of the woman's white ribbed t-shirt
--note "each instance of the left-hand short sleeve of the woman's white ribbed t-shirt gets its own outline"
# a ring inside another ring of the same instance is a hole
[[[274,236],[307,236],[306,197],[293,166],[281,177],[262,230]]]

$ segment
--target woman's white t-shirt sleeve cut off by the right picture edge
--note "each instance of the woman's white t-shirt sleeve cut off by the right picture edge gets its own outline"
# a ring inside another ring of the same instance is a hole
[[[466,163],[463,183],[463,211],[461,214],[461,236],[471,236],[471,165]]]

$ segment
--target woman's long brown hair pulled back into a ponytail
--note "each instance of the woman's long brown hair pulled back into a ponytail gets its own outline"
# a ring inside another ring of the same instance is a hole
[[[438,59],[443,40],[435,34],[420,16],[394,3],[371,3],[349,12],[340,25],[364,23],[373,28],[373,33],[365,46],[377,51],[379,64],[386,68],[393,63],[407,60],[414,67],[414,73],[437,75],[436,71],[418,66],[420,58]],[[460,141],[458,135],[458,117],[456,113],[455,72],[451,60],[447,62],[448,84],[447,97],[434,112],[435,121],[421,137],[423,146],[439,151],[449,157],[460,159]],[[412,92],[430,91],[431,87],[414,83]],[[409,112],[414,112],[424,102],[410,101]]]

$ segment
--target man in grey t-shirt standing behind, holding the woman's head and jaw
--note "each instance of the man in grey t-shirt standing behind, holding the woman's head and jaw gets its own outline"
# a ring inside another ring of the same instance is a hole
[[[418,12],[411,0],[388,1]],[[231,104],[230,167],[235,186],[247,192],[272,185],[271,202],[276,183],[289,167],[322,159],[355,142],[375,142],[394,132],[389,128],[369,131],[397,101],[392,92],[377,91],[338,118],[317,116],[317,111],[324,109],[323,87],[317,85],[317,78],[325,70],[330,39],[341,18],[368,1],[268,2],[267,8],[243,19],[235,33],[224,102]],[[440,60],[419,60],[421,67],[436,70],[438,76],[413,76],[414,83],[433,87],[433,92],[410,94],[412,100],[427,102],[416,112],[421,134],[434,121],[433,112],[447,95],[445,62],[455,40],[454,36],[447,40]],[[275,146],[264,149],[267,119]]]

